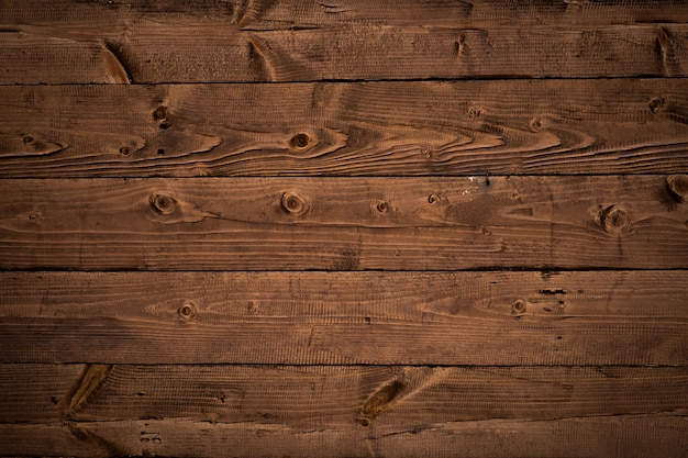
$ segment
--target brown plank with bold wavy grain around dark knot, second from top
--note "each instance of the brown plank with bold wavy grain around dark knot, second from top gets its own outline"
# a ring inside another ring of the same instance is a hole
[[[0,87],[0,177],[685,172],[687,89],[686,79]]]

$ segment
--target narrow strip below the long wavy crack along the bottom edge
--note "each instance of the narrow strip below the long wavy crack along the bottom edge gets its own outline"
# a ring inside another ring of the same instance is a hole
[[[688,422],[613,416],[345,429],[179,420],[0,425],[4,456],[683,458]]]

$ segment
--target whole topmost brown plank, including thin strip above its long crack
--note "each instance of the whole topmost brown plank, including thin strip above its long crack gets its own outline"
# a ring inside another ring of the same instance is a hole
[[[672,1],[369,3],[5,1],[0,83],[688,76]]]

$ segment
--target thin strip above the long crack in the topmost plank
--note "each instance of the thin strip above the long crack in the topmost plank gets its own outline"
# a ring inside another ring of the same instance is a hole
[[[135,0],[127,2],[4,0],[0,12],[7,24],[56,26],[85,33],[122,34],[129,23],[144,20],[185,23],[214,21],[252,30],[298,30],[342,24],[435,25],[485,27],[489,25],[631,25],[688,23],[681,0],[623,0],[555,2],[528,0],[341,0],[326,4],[313,0]],[[110,27],[110,29],[108,29]]]

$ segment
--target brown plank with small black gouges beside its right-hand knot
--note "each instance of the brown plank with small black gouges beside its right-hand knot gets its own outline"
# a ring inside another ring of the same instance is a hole
[[[5,272],[0,361],[685,366],[687,280],[685,270]]]

